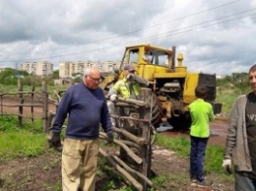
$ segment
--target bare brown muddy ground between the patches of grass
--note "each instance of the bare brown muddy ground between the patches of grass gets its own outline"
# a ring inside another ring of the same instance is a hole
[[[10,107],[11,108],[11,107]],[[12,109],[8,109],[12,112]],[[54,109],[54,106],[51,107]],[[29,109],[30,111],[30,109]],[[29,112],[28,111],[28,112]],[[17,112],[17,111],[13,111]],[[35,109],[34,115],[40,113],[40,109]],[[226,123],[215,121],[211,124],[211,133],[209,143],[213,145],[224,146]],[[171,137],[186,137],[187,134],[178,132],[164,132],[161,135]],[[61,190],[61,154],[48,149],[45,154],[36,158],[20,158],[10,161],[0,160],[0,191],[54,191]],[[153,148],[152,169],[157,175],[168,174],[168,179],[160,190],[184,190],[184,191],[231,191],[234,190],[232,183],[224,182],[219,174],[207,174],[209,180],[214,181],[211,188],[200,189],[191,186],[189,178],[189,160],[179,159],[175,153],[158,146]],[[101,185],[109,182],[111,179],[107,175],[97,174],[96,190],[101,191]],[[120,183],[122,185],[124,183]],[[118,188],[112,189],[118,190]]]

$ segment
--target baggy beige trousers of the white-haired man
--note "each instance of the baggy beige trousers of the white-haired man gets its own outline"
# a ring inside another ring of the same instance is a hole
[[[62,150],[62,191],[95,191],[99,140],[65,139]]]

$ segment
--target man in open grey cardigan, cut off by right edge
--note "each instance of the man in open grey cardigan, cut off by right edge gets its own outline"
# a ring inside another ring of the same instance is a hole
[[[224,149],[224,171],[234,166],[235,190],[256,191],[256,64],[249,69],[252,92],[234,101]]]

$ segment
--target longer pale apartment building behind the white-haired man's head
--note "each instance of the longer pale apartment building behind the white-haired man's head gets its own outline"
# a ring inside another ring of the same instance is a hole
[[[81,73],[84,74],[86,68],[96,66],[100,72],[111,72],[114,69],[118,69],[120,62],[99,62],[99,61],[66,61],[59,63],[59,77],[70,78],[73,74]]]

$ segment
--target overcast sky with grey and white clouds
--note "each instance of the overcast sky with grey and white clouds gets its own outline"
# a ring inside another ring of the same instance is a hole
[[[255,0],[0,0],[0,67],[28,61],[120,61],[151,43],[190,72],[229,75],[256,63]]]

